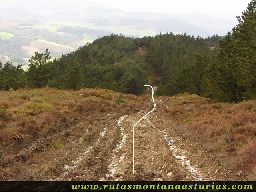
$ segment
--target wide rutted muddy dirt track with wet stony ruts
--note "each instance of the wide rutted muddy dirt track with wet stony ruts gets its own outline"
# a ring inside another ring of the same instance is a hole
[[[108,116],[105,129],[82,158],[66,165],[60,180],[244,180],[208,150],[179,133],[172,122],[152,112],[135,127],[135,174],[132,128],[146,114]],[[75,163],[74,163],[75,162]]]

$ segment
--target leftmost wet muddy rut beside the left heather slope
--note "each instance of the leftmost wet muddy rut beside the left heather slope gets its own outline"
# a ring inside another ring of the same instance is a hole
[[[96,153],[100,148],[104,151],[104,148],[108,145],[105,144],[101,147],[99,145],[107,140],[106,134],[108,132],[115,136],[116,128],[112,125],[112,118],[116,119],[116,116],[107,114],[103,118],[98,118],[98,122],[94,125],[89,125],[87,120],[72,127],[72,129],[79,128],[80,138],[69,142],[68,145],[71,150],[68,150],[63,157],[53,159],[43,170],[42,168],[35,170],[36,180],[79,180],[76,176],[81,176],[81,174],[77,174],[82,168],[81,164],[91,159],[91,154]],[[73,177],[74,175],[75,177]],[[95,180],[95,177],[93,176],[91,180]]]

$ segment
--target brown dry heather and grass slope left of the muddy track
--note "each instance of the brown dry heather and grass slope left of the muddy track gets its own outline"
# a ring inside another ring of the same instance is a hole
[[[33,180],[26,178],[32,170],[44,169],[49,159],[70,150],[67,138],[81,136],[79,124],[94,126],[106,114],[121,116],[148,106],[148,97],[131,94],[118,105],[119,94],[102,89],[0,91],[0,180]]]

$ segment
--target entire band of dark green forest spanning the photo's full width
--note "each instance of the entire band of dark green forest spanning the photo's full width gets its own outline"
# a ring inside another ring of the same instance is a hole
[[[149,83],[158,86],[158,95],[189,92],[240,102],[256,96],[255,21],[253,0],[225,37],[166,33],[128,38],[112,34],[50,62],[48,50],[35,52],[27,72],[11,63],[0,64],[0,88],[98,87],[141,94]],[[141,47],[143,52],[138,51]]]

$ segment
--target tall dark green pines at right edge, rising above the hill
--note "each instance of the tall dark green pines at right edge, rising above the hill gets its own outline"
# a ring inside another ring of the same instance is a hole
[[[222,101],[240,102],[256,95],[256,0],[238,18],[238,25],[220,40],[220,51],[208,74],[211,93]]]

